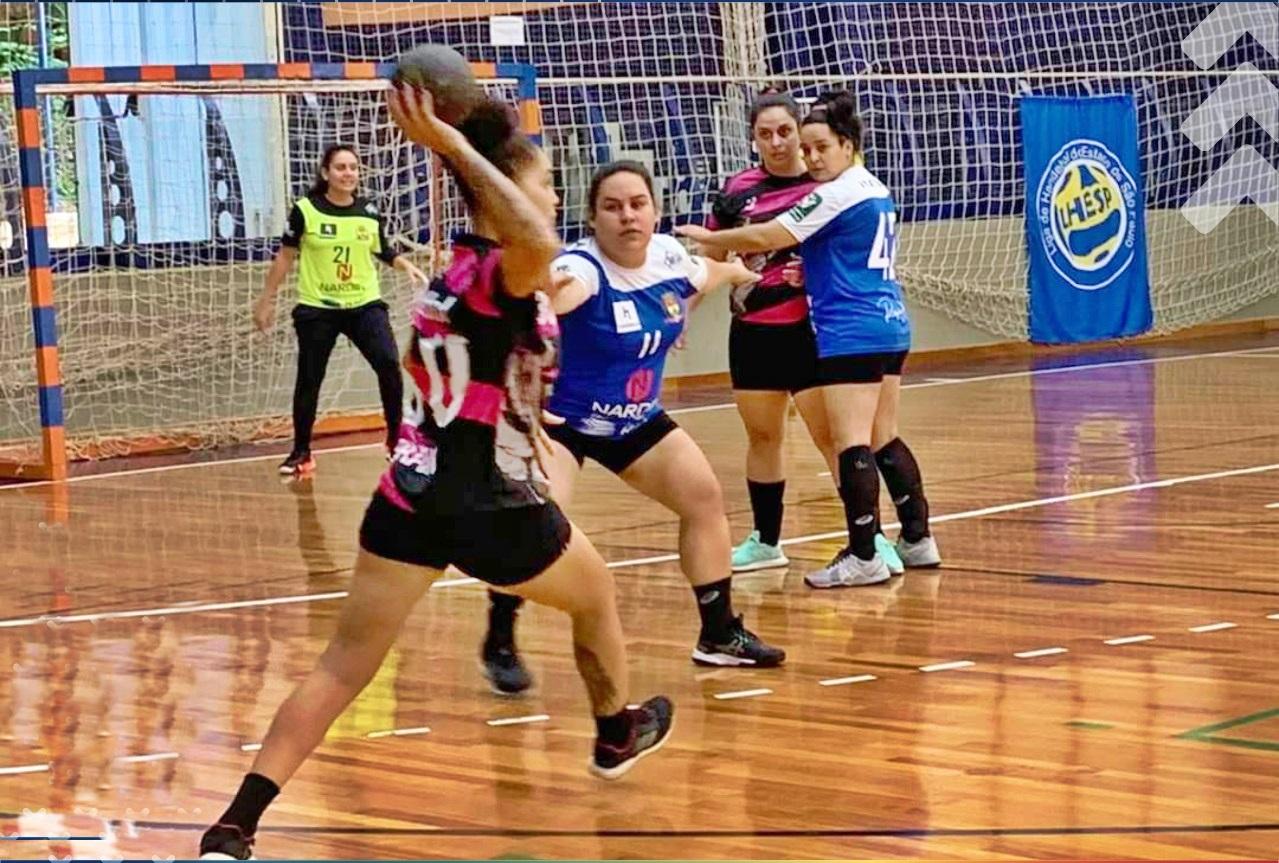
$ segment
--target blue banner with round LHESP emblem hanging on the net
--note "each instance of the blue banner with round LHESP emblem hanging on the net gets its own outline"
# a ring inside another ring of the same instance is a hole
[[[1024,96],[1031,341],[1145,332],[1146,198],[1132,96]]]

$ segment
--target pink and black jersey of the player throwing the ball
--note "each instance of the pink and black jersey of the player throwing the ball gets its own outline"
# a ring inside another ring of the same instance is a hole
[[[379,486],[408,511],[459,513],[545,504],[535,446],[555,375],[558,326],[541,293],[509,297],[501,248],[459,235],[453,263],[414,299],[404,367],[409,396]]]

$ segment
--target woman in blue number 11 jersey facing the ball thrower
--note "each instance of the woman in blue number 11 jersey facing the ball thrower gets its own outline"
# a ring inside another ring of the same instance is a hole
[[[688,299],[758,276],[741,263],[694,258],[671,237],[654,235],[659,211],[648,170],[620,161],[601,167],[588,193],[592,237],[551,270],[560,323],[560,369],[546,432],[551,494],[568,506],[585,459],[679,515],[679,560],[696,595],[700,665],[780,665],[785,653],[733,614],[728,518],[710,462],[661,408],[666,353],[684,327]],[[527,689],[512,634],[518,600],[498,597],[483,647],[485,673],[500,694]]]

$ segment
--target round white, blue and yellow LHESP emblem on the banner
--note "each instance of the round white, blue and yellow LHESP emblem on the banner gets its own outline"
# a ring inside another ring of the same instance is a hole
[[[1062,147],[1040,176],[1035,205],[1049,263],[1074,288],[1105,288],[1133,262],[1137,182],[1101,142]]]

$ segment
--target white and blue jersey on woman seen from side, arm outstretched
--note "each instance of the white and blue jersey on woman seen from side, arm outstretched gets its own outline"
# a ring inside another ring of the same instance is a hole
[[[776,221],[799,240],[817,355],[911,348],[911,320],[893,271],[898,225],[888,187],[854,165]]]

